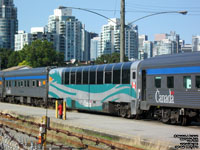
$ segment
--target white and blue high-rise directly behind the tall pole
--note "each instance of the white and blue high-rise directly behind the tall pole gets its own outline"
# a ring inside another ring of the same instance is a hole
[[[108,20],[108,24],[102,26],[99,41],[98,56],[120,52],[120,19]],[[125,55],[129,59],[138,57],[138,29],[137,26],[126,26],[125,29]]]

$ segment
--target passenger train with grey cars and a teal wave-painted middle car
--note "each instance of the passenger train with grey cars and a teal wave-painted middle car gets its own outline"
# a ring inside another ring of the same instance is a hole
[[[186,125],[200,120],[200,52],[92,66],[0,72],[1,100]]]

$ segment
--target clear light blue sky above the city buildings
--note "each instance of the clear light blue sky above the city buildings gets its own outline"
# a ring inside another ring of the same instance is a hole
[[[120,0],[14,0],[18,9],[19,30],[30,32],[31,27],[45,26],[49,15],[59,6],[87,8],[108,18],[120,17]],[[200,0],[126,0],[126,23],[151,13],[187,10],[187,15],[162,14],[140,20],[139,34],[147,34],[154,40],[156,33],[176,31],[186,43],[192,35],[200,34]],[[95,14],[73,10],[86,29],[100,33],[107,20]]]

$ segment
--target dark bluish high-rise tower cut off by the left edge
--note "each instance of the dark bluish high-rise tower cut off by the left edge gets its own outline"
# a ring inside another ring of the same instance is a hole
[[[17,30],[17,8],[14,6],[13,0],[0,0],[1,47],[14,50],[14,38]]]

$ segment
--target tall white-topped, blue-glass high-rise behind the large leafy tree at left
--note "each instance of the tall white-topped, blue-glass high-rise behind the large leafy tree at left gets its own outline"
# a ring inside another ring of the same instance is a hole
[[[57,50],[65,54],[65,61],[87,60],[88,35],[84,25],[75,16],[72,16],[70,8],[61,6],[55,9],[54,14],[49,16],[47,31],[59,35]]]

